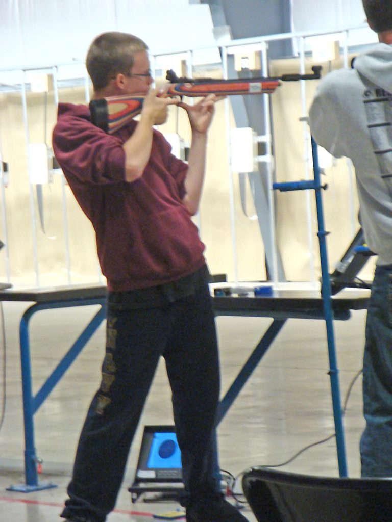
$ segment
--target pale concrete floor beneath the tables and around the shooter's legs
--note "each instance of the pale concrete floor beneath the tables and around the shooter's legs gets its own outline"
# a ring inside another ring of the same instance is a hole
[[[91,396],[100,382],[105,329],[103,325],[100,327],[34,417],[37,454],[43,459],[42,481],[53,482],[57,488],[15,493],[6,488],[25,480],[18,325],[26,303],[3,303],[3,309],[7,376],[6,413],[0,430],[0,520],[60,520],[78,435]],[[93,307],[83,307],[45,311],[33,317],[30,331],[34,392],[93,313]],[[230,385],[270,322],[266,318],[217,318],[222,392]],[[349,321],[335,323],[343,398],[362,367],[364,322],[365,312],[357,311]],[[0,360],[2,370],[3,362]],[[327,371],[325,323],[290,319],[220,425],[221,467],[237,475],[252,465],[280,464],[303,447],[333,434]],[[2,381],[1,376],[0,383]],[[358,446],[364,426],[361,384],[360,377],[352,388],[344,417],[351,477],[360,476]],[[0,394],[3,401],[1,390]],[[163,364],[159,366],[130,453],[117,511],[108,517],[109,522],[147,520],[153,513],[162,514],[179,507],[172,502],[131,502],[128,487],[134,476],[143,426],[148,424],[172,424],[170,391]],[[306,450],[282,469],[338,476],[335,439]],[[240,491],[240,483],[237,490]],[[244,514],[251,521],[255,520],[246,508]]]

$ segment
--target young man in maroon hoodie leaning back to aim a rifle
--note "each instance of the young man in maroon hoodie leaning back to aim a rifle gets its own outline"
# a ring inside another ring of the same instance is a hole
[[[59,104],[53,149],[93,223],[108,284],[102,381],[80,435],[61,516],[103,522],[114,508],[126,459],[158,360],[165,358],[182,456],[188,522],[246,522],[216,493],[211,440],[220,391],[214,313],[191,216],[202,192],[214,95],[189,106],[152,89],[147,46],[133,35],[99,35],[87,54],[94,97],[145,95],[140,120],[112,135],[85,105]],[[179,104],[188,113],[188,164],[154,129]]]

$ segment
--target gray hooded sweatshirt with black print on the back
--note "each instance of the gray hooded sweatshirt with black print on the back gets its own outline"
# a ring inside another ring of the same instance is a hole
[[[359,55],[355,69],[323,78],[310,129],[333,156],[354,164],[361,224],[377,265],[392,264],[392,46]]]

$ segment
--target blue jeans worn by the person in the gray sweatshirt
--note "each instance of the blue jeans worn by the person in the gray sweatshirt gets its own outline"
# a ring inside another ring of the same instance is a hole
[[[362,477],[392,477],[392,265],[376,267],[366,319]]]

